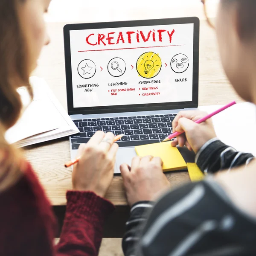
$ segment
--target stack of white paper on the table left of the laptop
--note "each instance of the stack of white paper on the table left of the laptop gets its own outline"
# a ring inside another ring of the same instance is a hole
[[[34,99],[29,104],[26,88],[18,89],[25,111],[19,121],[6,131],[6,140],[10,144],[15,143],[17,147],[24,147],[78,133],[79,129],[58,102],[46,81],[33,76],[30,83],[34,90]]]

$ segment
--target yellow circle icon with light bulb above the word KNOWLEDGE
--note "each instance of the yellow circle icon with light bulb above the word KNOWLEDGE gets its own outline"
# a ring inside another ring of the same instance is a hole
[[[162,61],[154,52],[145,52],[137,60],[137,72],[144,78],[157,76],[161,67]]]

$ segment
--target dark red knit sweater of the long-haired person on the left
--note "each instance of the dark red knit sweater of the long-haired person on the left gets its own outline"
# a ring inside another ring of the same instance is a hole
[[[59,244],[51,206],[28,164],[19,182],[0,194],[0,255],[96,256],[105,218],[114,207],[93,192],[67,192]]]

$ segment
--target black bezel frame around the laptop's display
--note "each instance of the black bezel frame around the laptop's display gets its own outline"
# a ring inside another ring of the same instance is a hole
[[[70,31],[85,29],[106,29],[117,27],[133,26],[159,26],[175,24],[194,24],[194,45],[193,45],[193,85],[192,101],[190,102],[167,102],[151,104],[134,104],[134,105],[115,105],[100,107],[74,108],[73,105],[73,83],[71,71],[71,51],[70,51]],[[113,21],[100,23],[79,23],[67,24],[64,26],[64,52],[65,52],[65,69],[66,69],[66,89],[67,89],[67,109],[68,114],[97,114],[97,113],[117,113],[117,112],[136,112],[136,111],[155,111],[181,108],[198,107],[198,76],[199,76],[199,19],[198,17],[168,18],[154,20],[129,20]]]

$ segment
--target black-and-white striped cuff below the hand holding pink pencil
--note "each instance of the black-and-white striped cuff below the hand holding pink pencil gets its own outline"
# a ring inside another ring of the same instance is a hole
[[[230,170],[244,164],[247,165],[253,159],[252,154],[238,152],[214,138],[205,143],[198,151],[195,161],[202,172],[207,174],[224,169]]]

